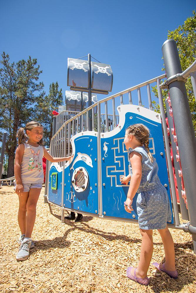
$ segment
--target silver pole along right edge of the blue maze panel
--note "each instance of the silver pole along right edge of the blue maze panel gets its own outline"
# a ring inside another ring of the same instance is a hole
[[[164,110],[164,106],[163,106],[163,96],[162,96],[161,88],[159,87],[159,85],[160,85],[160,79],[157,79],[157,90],[158,90],[161,120],[162,120],[162,126],[163,126],[165,150],[166,150],[166,155],[167,155],[167,165],[168,165],[168,171],[169,171],[169,176],[170,176],[174,218],[175,218],[175,224],[180,225],[177,200],[176,200],[176,193],[175,193],[175,183],[174,183],[173,170],[172,170],[172,161],[171,161],[171,156],[170,156],[170,145],[169,145],[169,139],[167,136],[167,125],[166,125],[166,121],[165,121],[165,110]]]

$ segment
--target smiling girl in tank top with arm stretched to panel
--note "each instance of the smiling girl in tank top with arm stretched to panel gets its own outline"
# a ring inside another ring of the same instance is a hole
[[[31,239],[36,218],[36,205],[43,183],[42,157],[50,162],[68,161],[73,156],[53,158],[43,146],[43,126],[28,122],[17,133],[19,146],[16,149],[14,175],[15,192],[19,196],[18,222],[21,230],[17,260],[26,260],[29,249],[35,245]]]

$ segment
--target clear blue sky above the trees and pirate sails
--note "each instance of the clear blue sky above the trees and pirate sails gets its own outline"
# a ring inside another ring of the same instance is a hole
[[[0,48],[11,61],[37,58],[48,93],[67,87],[67,58],[91,53],[113,70],[117,93],[162,74],[167,31],[192,15],[195,1],[1,1]],[[109,94],[110,95],[110,94]],[[99,95],[98,99],[105,98]],[[142,97],[143,98],[143,97]],[[143,103],[147,105],[145,97]]]

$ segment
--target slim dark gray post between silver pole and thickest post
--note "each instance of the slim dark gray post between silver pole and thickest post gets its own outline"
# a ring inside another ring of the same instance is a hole
[[[171,144],[172,144],[172,152],[173,152],[174,168],[175,168],[176,181],[177,181],[177,187],[178,187],[178,195],[179,195],[179,200],[180,200],[181,216],[182,216],[183,220],[188,220],[189,221],[188,210],[187,210],[187,207],[186,207],[185,202],[184,202],[184,200],[182,198],[182,195],[181,195],[181,189],[182,189],[181,179],[178,176],[178,170],[180,170],[180,163],[176,161],[176,155],[177,155],[176,144],[175,144],[175,142],[173,140],[173,134],[172,134],[173,119],[170,116],[170,112],[169,112],[170,107],[169,107],[167,101],[165,101],[165,105],[166,105],[167,119],[168,119],[169,129],[170,129],[170,139],[171,139]]]

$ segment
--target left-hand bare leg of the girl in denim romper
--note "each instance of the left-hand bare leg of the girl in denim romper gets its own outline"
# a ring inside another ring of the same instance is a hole
[[[136,277],[145,278],[147,277],[148,268],[153,255],[153,230],[140,229],[140,233],[142,235],[142,245]],[[134,275],[134,268],[131,270],[131,274]]]

